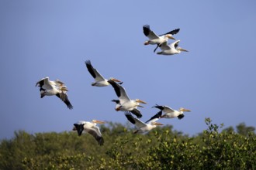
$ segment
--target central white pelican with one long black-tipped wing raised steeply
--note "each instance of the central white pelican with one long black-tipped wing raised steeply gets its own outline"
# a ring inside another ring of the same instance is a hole
[[[126,111],[131,111],[133,109],[136,109],[137,107],[142,107],[140,104],[147,104],[143,100],[130,100],[128,95],[126,94],[126,90],[119,85],[118,83],[114,82],[113,80],[109,80],[109,83],[112,85],[116,92],[116,96],[119,97],[119,104],[118,107],[116,107],[116,111],[119,110],[126,110]]]

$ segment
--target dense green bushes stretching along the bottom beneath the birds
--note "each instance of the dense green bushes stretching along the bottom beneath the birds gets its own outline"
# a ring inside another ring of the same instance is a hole
[[[90,134],[16,131],[0,144],[0,169],[256,169],[256,138],[245,124],[190,138],[172,126],[133,134],[122,124],[102,125],[103,146]]]

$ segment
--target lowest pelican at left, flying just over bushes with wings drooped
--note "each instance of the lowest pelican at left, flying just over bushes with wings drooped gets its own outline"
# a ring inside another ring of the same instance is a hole
[[[83,131],[88,132],[88,134],[92,134],[92,136],[98,141],[99,145],[104,144],[104,139],[102,138],[102,134],[99,131],[99,127],[97,124],[105,124],[104,121],[78,121],[74,124],[73,131],[78,131],[78,136],[81,136]]]

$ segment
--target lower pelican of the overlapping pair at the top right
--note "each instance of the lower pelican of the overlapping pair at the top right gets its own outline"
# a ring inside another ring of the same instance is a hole
[[[189,52],[188,50],[182,49],[181,47],[179,47],[178,42],[180,42],[180,40],[177,40],[177,41],[172,42],[170,44],[167,44],[167,42],[162,43],[161,45],[159,45],[159,47],[161,48],[162,51],[157,52],[157,54],[173,55],[173,54],[182,53],[182,51]]]

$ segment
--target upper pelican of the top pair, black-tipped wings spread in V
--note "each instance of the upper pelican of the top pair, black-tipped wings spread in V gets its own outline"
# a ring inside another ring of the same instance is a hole
[[[157,36],[157,34],[154,33],[154,31],[152,31],[150,29],[150,26],[145,25],[145,26],[143,26],[143,32],[144,32],[144,35],[147,36],[147,38],[148,38],[148,40],[146,42],[144,42],[144,45],[157,44],[157,47],[158,47],[162,43],[167,42],[168,39],[175,39],[173,37],[173,35],[177,34],[179,32],[179,29],[174,29],[170,32],[166,32],[165,34],[161,34],[161,35]],[[154,49],[154,52],[156,49]]]

